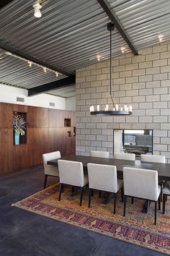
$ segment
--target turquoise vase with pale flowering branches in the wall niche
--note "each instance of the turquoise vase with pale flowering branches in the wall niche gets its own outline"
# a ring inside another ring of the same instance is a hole
[[[24,130],[26,129],[26,121],[24,121],[24,116],[15,114],[13,125],[15,145],[19,145],[19,135],[24,135]]]

